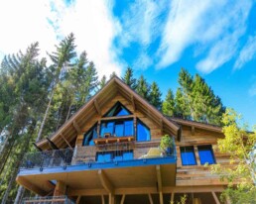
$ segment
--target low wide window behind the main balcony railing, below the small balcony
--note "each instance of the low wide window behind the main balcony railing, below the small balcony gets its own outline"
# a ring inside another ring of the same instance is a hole
[[[98,162],[129,159],[133,159],[133,151],[100,152],[96,154],[96,161]]]

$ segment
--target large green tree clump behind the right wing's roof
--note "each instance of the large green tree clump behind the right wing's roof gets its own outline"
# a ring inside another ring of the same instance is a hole
[[[221,100],[198,74],[194,77],[184,68],[179,73],[180,88],[176,94],[175,115],[203,123],[221,125],[225,111]]]

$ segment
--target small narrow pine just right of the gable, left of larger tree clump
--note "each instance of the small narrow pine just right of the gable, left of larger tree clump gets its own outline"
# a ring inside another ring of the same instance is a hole
[[[174,116],[175,114],[175,96],[172,89],[168,89],[166,99],[162,105],[162,112],[167,116]]]

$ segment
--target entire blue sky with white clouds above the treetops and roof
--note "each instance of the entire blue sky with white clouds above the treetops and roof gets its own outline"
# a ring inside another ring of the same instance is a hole
[[[256,2],[0,0],[0,57],[38,41],[41,54],[74,33],[100,76],[135,75],[176,91],[181,67],[256,124]],[[15,7],[13,5],[16,5]],[[15,14],[15,15],[14,15]]]

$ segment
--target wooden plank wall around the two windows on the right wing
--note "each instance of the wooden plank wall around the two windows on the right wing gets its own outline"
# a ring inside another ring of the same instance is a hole
[[[223,185],[226,184],[219,180],[215,174],[211,174],[210,167],[200,164],[197,146],[211,145],[215,156],[215,161],[223,165],[228,164],[228,154],[219,153],[216,144],[217,139],[223,138],[223,134],[205,131],[189,126],[183,126],[181,142],[176,142],[177,150],[177,186],[201,186],[201,185]],[[180,147],[193,146],[196,158],[196,165],[183,165],[181,160]]]

